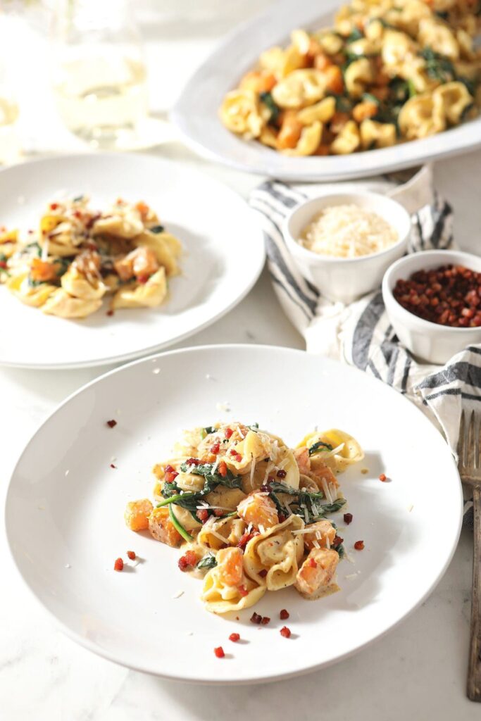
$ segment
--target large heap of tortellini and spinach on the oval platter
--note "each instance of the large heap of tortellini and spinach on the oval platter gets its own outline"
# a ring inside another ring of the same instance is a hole
[[[261,54],[222,123],[291,156],[425,138],[477,115],[478,0],[352,0],[334,27],[294,30]]]

